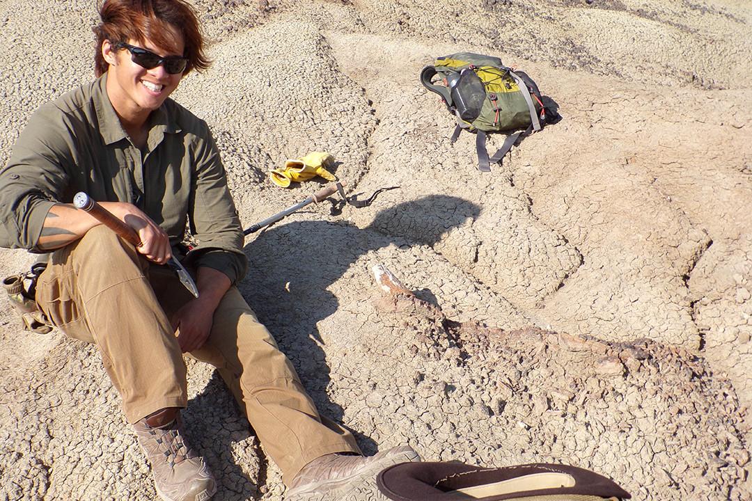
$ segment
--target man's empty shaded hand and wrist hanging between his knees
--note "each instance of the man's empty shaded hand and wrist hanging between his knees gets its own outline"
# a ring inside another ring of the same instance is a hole
[[[197,274],[199,297],[188,301],[170,319],[183,353],[204,346],[214,324],[214,311],[232,285],[224,273],[213,268],[199,267]]]

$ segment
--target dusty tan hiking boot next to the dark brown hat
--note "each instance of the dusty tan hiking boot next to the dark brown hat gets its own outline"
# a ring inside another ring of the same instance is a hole
[[[308,463],[285,493],[288,501],[334,501],[335,499],[387,499],[376,487],[376,475],[387,466],[420,461],[408,445],[375,456],[326,454]],[[347,496],[347,497],[346,497]]]

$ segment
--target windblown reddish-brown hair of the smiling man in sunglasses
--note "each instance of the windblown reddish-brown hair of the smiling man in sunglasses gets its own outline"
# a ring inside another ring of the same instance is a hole
[[[97,77],[107,72],[109,64],[102,56],[102,44],[109,40],[112,44],[139,41],[143,44],[148,38],[157,47],[177,50],[172,33],[183,35],[188,58],[183,74],[196,68],[205,70],[211,60],[204,53],[204,37],[196,18],[196,11],[183,0],[105,0],[99,9],[102,20],[93,31],[96,35],[94,72]]]

